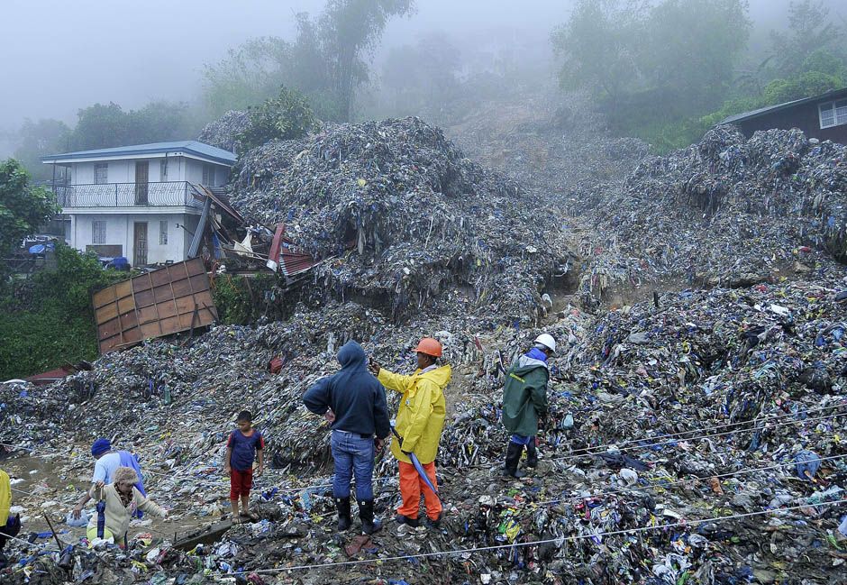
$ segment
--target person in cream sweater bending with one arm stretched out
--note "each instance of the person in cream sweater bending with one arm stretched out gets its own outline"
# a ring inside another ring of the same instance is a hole
[[[119,467],[112,474],[112,483],[98,481],[88,492],[97,500],[96,513],[88,521],[88,542],[96,538],[126,546],[126,531],[136,510],[167,517],[168,511],[141,495],[135,487],[138,474],[132,467]]]

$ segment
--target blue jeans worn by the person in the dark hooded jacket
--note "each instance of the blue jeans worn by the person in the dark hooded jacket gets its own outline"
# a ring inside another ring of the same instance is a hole
[[[356,499],[374,498],[374,440],[363,439],[356,433],[332,431],[332,459],[335,460],[335,476],[332,478],[332,495],[335,498],[350,497],[350,480],[356,476]]]

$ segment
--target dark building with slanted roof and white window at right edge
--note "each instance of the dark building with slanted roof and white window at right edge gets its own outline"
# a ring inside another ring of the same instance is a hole
[[[847,144],[847,87],[731,115],[722,123],[738,126],[748,138],[757,130],[799,128],[809,138]]]

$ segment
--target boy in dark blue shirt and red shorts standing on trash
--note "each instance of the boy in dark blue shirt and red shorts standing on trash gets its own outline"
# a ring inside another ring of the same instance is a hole
[[[238,430],[230,434],[223,463],[223,470],[230,476],[232,521],[239,521],[239,498],[241,517],[257,520],[258,516],[250,514],[250,488],[253,487],[253,461],[259,460],[256,477],[264,470],[262,450],[265,448],[265,440],[261,433],[253,428],[253,416],[249,410],[242,410],[238,414],[236,424]]]

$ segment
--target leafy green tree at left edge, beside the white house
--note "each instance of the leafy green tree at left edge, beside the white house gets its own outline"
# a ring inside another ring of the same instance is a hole
[[[0,162],[0,258],[56,213],[53,194],[29,185],[29,174],[14,159]],[[5,266],[5,265],[4,265]]]

